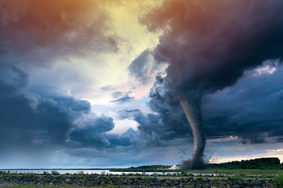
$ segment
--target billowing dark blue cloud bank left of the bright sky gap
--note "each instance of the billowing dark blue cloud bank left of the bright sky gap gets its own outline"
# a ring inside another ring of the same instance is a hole
[[[113,118],[91,113],[91,104],[58,92],[57,87],[30,87],[29,74],[15,67],[1,67],[1,151],[109,145],[105,132],[114,128]],[[33,90],[33,91],[31,91]],[[36,92],[36,93],[34,93]]]

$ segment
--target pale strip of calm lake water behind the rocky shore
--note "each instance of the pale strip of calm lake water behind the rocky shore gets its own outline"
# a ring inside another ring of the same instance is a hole
[[[45,172],[48,172],[51,174],[51,171],[50,169],[40,169],[40,170],[37,170],[37,169],[27,169],[27,170],[15,170],[15,169],[0,169],[1,171],[8,171],[10,170],[10,172],[17,172],[17,173],[39,173],[39,174],[42,174],[43,171]],[[69,173],[69,174],[74,174],[74,173],[79,173],[80,171],[83,171],[84,174],[91,174],[91,173],[96,173],[96,174],[101,174],[101,173],[108,173],[108,174],[116,174],[116,175],[121,175],[122,173],[125,173],[125,174],[128,174],[128,173],[139,173],[139,174],[142,174],[144,172],[110,172],[109,170],[56,170],[57,172],[59,172],[60,174],[65,174],[65,173]],[[146,172],[146,174],[153,174],[153,173],[157,173],[157,174],[162,174],[162,172]],[[166,172],[165,174],[172,174],[174,172]],[[175,172],[177,173],[177,172]],[[188,171],[189,173],[189,171]],[[194,175],[197,175],[198,173],[192,173]],[[205,174],[202,174],[202,175],[205,175]],[[209,174],[211,175],[211,174]]]

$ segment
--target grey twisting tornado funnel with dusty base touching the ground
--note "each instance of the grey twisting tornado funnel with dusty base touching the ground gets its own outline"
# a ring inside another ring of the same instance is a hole
[[[179,99],[192,128],[195,144],[192,159],[184,161],[182,167],[185,169],[203,169],[205,168],[205,164],[202,157],[206,144],[206,137],[201,115],[201,99],[196,100],[189,98],[189,96],[184,97],[181,95],[179,96]]]

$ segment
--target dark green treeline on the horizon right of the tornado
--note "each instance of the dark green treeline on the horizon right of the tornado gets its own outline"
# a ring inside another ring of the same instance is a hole
[[[280,164],[278,157],[265,157],[250,160],[211,163],[209,168],[225,168],[225,169],[282,169],[283,162]]]

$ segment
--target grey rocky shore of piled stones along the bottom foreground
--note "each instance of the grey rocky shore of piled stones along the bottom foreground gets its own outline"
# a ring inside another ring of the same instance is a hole
[[[175,175],[175,174],[173,174]],[[4,185],[14,184],[36,184],[36,185],[66,185],[73,186],[107,186],[116,187],[132,187],[132,188],[149,188],[149,187],[201,187],[201,188],[279,188],[273,179],[255,178],[235,178],[233,176],[226,178],[217,177],[158,177],[142,176],[135,174],[134,176],[117,176],[113,174],[76,174],[76,175],[0,175],[0,187]]]

